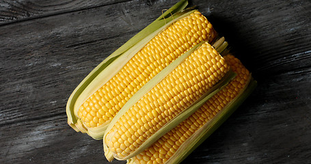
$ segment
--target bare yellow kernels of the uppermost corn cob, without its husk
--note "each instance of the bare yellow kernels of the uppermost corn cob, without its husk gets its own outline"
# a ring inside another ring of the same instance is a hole
[[[193,46],[216,36],[211,23],[200,14],[173,23],[79,107],[78,118],[86,128],[107,124],[123,105],[152,77]]]

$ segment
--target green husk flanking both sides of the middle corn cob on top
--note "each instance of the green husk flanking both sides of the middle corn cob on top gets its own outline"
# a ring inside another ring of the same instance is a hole
[[[172,72],[172,70],[174,70],[174,68],[176,68],[178,65],[180,65],[182,63],[182,61],[184,61],[189,55],[191,55],[191,53],[193,51],[198,49],[198,47],[200,47],[200,45],[202,45],[202,43],[194,46],[193,49],[191,49],[187,53],[178,57],[178,59],[173,61],[172,64],[170,64],[169,66],[164,68],[161,72],[159,72],[159,74],[157,74],[154,78],[152,78],[150,81],[148,81],[148,83],[146,83],[146,85],[144,85],[144,87],[141,87],[141,90],[139,90],[128,102],[126,102],[124,107],[122,107],[122,109],[113,118],[113,120],[111,120],[111,123],[107,127],[107,131],[105,132],[105,135],[103,137],[103,147],[104,147],[104,151],[105,151],[105,156],[106,156],[108,161],[112,161],[113,158],[118,159],[118,160],[126,160],[126,159],[130,159],[133,156],[139,154],[141,151],[143,151],[144,149],[146,149],[150,145],[152,145],[152,143],[154,143],[154,141],[157,141],[157,139],[159,139],[161,136],[165,135],[165,133],[169,132],[170,130],[172,130],[172,128],[174,128],[175,126],[180,124],[180,122],[182,122],[183,120],[188,118],[192,113],[194,113],[197,109],[199,109],[202,105],[204,105],[204,103],[209,98],[211,98],[215,94],[217,94],[217,92],[219,92],[223,87],[226,87],[226,85],[228,85],[228,83],[230,83],[230,81],[232,79],[234,79],[236,74],[232,70],[229,70],[226,73],[225,77],[223,77],[223,79],[221,79],[221,81],[219,81],[208,92],[206,92],[206,94],[204,94],[199,100],[196,100],[195,102],[193,102],[193,104],[191,106],[187,107],[187,109],[185,109],[184,111],[182,111],[182,113],[177,115],[176,118],[174,118],[173,120],[171,120],[170,122],[165,124],[159,131],[154,133],[154,135],[152,135],[152,137],[150,137],[146,141],[144,141],[144,143],[142,143],[141,146],[139,146],[139,148],[137,148],[137,150],[135,150],[135,152],[133,152],[129,156],[126,156],[124,159],[121,159],[118,156],[115,156],[115,154],[113,154],[112,152],[109,151],[109,148],[107,147],[107,143],[105,143],[105,138],[107,137],[107,133],[111,130],[113,125],[116,124],[116,122],[122,117],[122,115],[124,115],[124,113],[126,113],[126,111],[128,111],[138,100],[140,100],[141,97],[143,97],[147,92],[149,92],[152,89],[152,87],[157,85],[157,83],[159,83],[162,79],[164,79],[164,77],[166,77],[167,74],[170,74],[170,72]],[[222,49],[221,51],[224,50],[224,47],[223,47],[224,45],[228,45],[227,42],[224,41],[224,38],[219,39],[219,41],[217,41],[216,43],[214,44],[214,46],[217,46],[216,48],[218,48],[218,49],[221,48]]]

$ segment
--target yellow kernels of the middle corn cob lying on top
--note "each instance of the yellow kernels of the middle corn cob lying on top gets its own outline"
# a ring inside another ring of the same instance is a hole
[[[104,135],[105,155],[127,159],[155,132],[221,80],[229,66],[208,43],[202,44],[155,85]]]

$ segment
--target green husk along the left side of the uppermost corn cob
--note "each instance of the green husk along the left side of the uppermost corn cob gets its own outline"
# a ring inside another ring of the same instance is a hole
[[[160,31],[170,26],[176,20],[195,12],[195,10],[184,10],[187,4],[187,0],[181,0],[176,3],[176,5],[159,16],[159,18],[154,20],[154,22],[148,25],[148,27],[137,33],[136,36],[109,55],[109,57],[96,66],[96,68],[94,68],[94,70],[83,79],[70,95],[66,105],[68,124],[74,128],[75,131],[87,133],[94,139],[103,138],[103,134],[105,133],[105,129],[109,122],[96,128],[87,128],[77,117],[79,107],[88,96],[92,95],[101,85],[111,79],[111,77],[113,77],[118,70],[120,70],[122,66],[133,57],[133,55],[135,55],[135,53],[145,46],[154,36],[157,36]]]

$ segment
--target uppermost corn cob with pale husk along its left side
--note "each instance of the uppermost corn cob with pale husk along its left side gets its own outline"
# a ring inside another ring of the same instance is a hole
[[[72,96],[68,100],[68,124],[72,128],[95,139],[102,138],[109,122],[144,84],[193,46],[215,39],[213,26],[200,12],[182,12],[180,18],[178,14],[172,25],[166,23],[170,19],[163,16],[165,28],[150,34],[144,44],[136,44],[137,47],[126,51],[129,55],[118,57],[93,80],[86,78],[91,82],[85,83],[88,86],[80,93],[72,94],[77,96],[75,102]],[[155,33],[159,34],[155,36]]]

